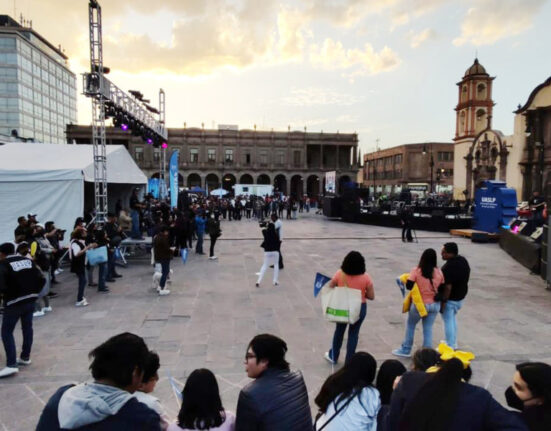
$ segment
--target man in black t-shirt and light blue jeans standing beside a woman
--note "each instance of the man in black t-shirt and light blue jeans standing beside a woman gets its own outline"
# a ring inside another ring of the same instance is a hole
[[[457,312],[463,306],[463,300],[469,290],[471,268],[467,259],[459,255],[459,248],[455,242],[445,243],[441,255],[446,261],[442,266],[446,282],[442,292],[440,311],[444,321],[446,344],[457,349]]]

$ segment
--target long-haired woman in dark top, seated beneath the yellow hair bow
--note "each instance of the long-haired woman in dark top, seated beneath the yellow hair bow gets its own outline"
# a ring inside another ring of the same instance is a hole
[[[459,359],[445,361],[438,371],[425,375],[425,383],[405,403],[401,415],[396,415],[392,397],[389,430],[526,430],[520,418],[503,408],[486,389],[465,382],[470,367],[465,368]]]

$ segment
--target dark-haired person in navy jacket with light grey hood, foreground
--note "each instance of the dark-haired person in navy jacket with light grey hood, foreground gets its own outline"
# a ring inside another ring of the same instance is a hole
[[[159,415],[132,395],[141,385],[149,349],[125,332],[90,352],[94,381],[59,388],[42,411],[37,431],[160,431]]]

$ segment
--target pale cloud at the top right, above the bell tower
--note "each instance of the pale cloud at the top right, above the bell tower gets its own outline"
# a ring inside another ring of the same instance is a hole
[[[467,11],[453,44],[492,45],[530,27],[545,0],[478,0]]]

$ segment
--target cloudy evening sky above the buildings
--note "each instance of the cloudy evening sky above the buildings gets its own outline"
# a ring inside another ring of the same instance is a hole
[[[478,56],[493,127],[551,75],[551,0],[100,0],[104,65],[168,127],[358,133],[363,153],[451,142],[456,83]],[[89,70],[87,0],[0,0]],[[82,90],[77,78],[79,93]],[[78,119],[90,124],[79,95]]]

